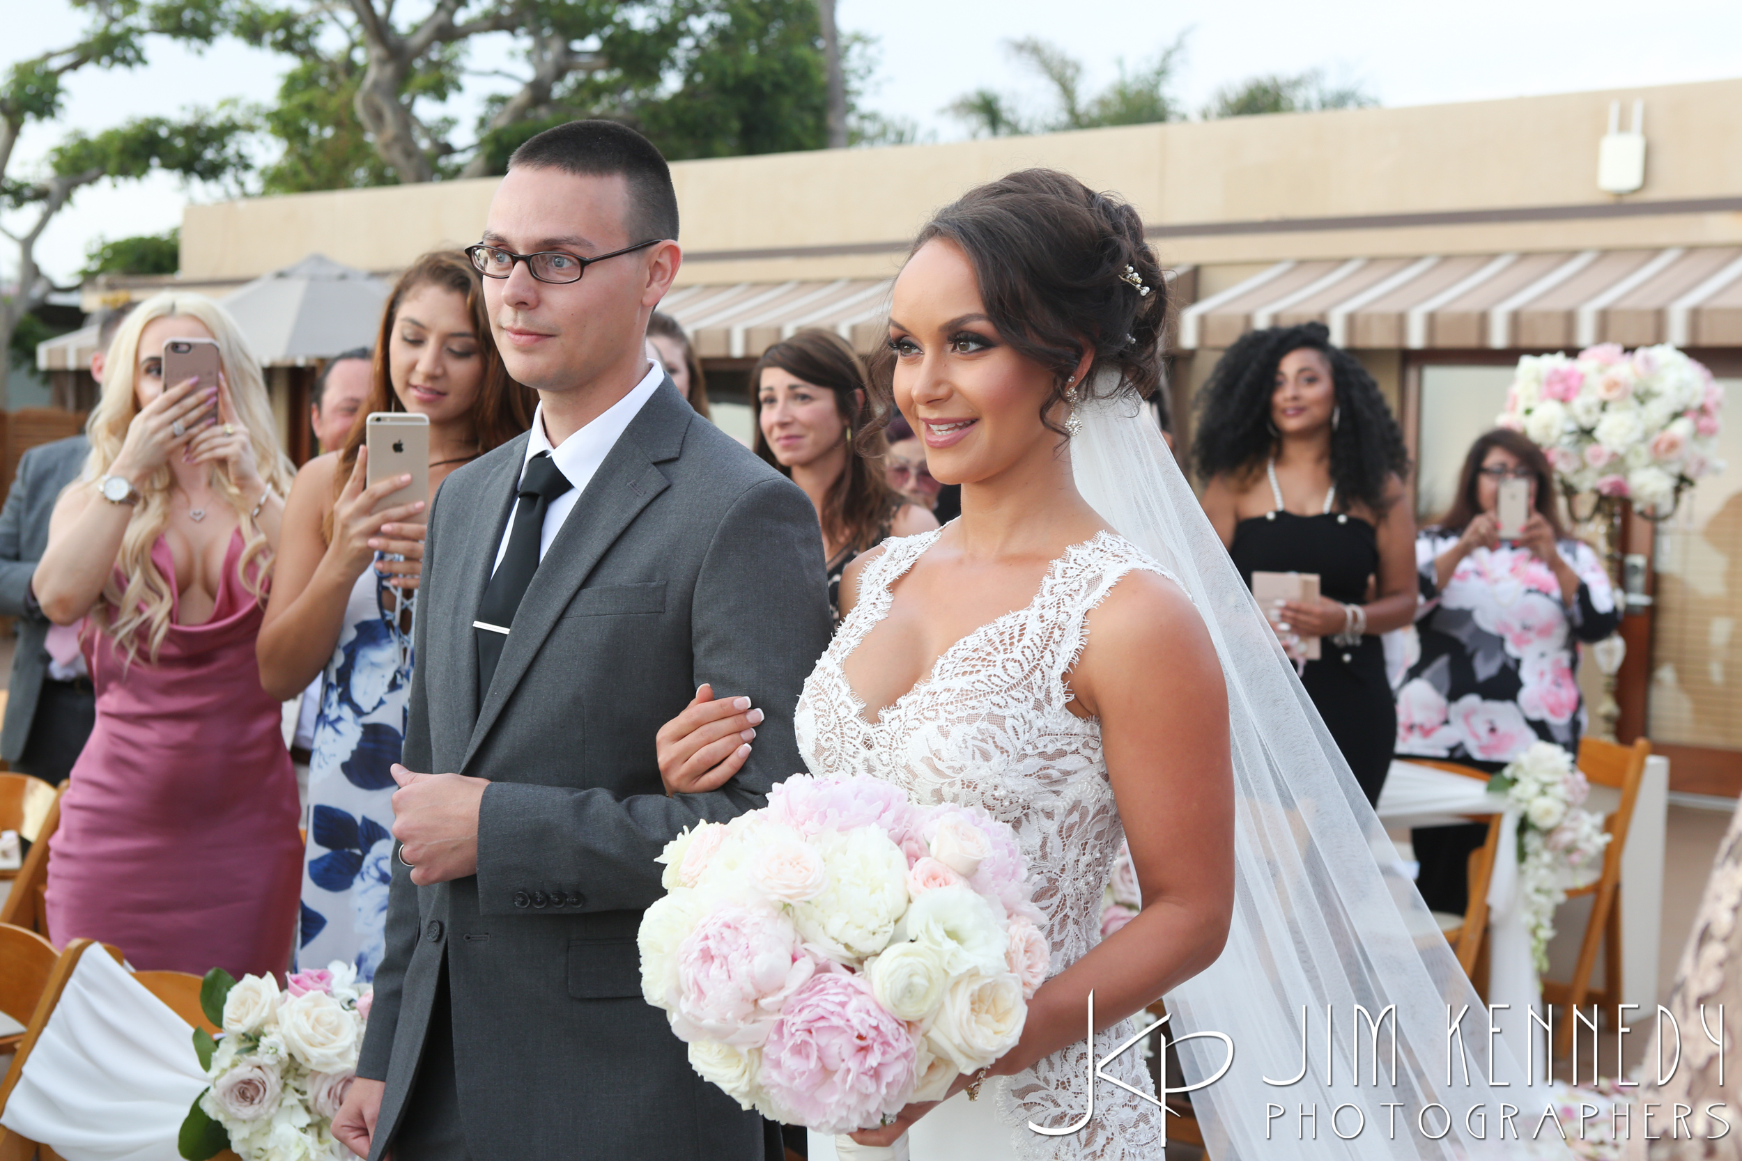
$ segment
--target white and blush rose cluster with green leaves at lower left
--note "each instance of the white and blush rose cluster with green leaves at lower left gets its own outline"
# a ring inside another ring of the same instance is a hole
[[[373,999],[375,989],[338,961],[293,973],[282,992],[272,976],[239,983],[219,968],[206,973],[200,1006],[223,1036],[193,1029],[211,1088],[181,1123],[181,1156],[206,1161],[233,1149],[244,1161],[350,1161],[331,1126]]]

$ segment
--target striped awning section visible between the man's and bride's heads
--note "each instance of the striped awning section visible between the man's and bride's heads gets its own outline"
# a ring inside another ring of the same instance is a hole
[[[700,359],[758,359],[807,327],[826,327],[859,350],[885,334],[888,279],[686,285],[658,305],[683,324]]]

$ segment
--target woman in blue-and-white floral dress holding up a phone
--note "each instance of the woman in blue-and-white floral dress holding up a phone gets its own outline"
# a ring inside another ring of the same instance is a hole
[[[449,472],[531,423],[490,338],[479,275],[465,254],[425,254],[381,312],[368,413],[429,419],[429,493]],[[411,599],[427,501],[385,503],[411,484],[368,484],[368,423],[341,451],[308,461],[284,510],[284,545],[260,630],[260,679],[289,700],[326,674],[308,762],[298,959],[375,976],[392,879],[394,776],[411,689]],[[404,430],[404,428],[394,428]]]

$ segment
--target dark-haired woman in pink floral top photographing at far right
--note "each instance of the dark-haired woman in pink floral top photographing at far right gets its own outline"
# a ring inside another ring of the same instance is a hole
[[[1500,480],[1531,482],[1531,517],[1502,540]],[[1620,625],[1603,562],[1561,527],[1547,456],[1493,430],[1465,456],[1451,510],[1416,538],[1420,658],[1397,691],[1397,755],[1498,771],[1533,742],[1578,754],[1585,707],[1578,642]],[[1418,886],[1434,910],[1462,912],[1465,862],[1486,823],[1413,834]]]

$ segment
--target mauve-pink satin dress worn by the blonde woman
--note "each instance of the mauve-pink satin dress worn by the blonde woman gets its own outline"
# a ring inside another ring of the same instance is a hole
[[[85,635],[98,721],[61,799],[49,848],[49,933],[113,943],[136,970],[282,976],[301,886],[296,775],[279,703],[260,688],[263,607],[237,574],[240,529],[225,554],[218,606],[181,625],[176,567],[162,538],[152,560],[174,614],[150,660],[125,663]]]

